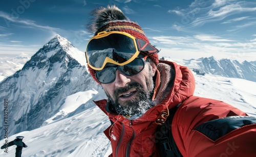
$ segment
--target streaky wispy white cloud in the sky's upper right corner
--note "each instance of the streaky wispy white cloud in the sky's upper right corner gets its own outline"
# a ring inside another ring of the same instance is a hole
[[[181,17],[180,21],[176,21],[174,28],[181,31],[191,27],[200,27],[207,23],[222,21],[234,14],[255,12],[256,3],[240,2],[236,0],[216,0],[212,1],[195,1],[186,9],[168,10],[168,13],[175,13]],[[222,24],[231,23],[232,21],[239,21],[249,18],[243,16],[240,18],[230,19]]]

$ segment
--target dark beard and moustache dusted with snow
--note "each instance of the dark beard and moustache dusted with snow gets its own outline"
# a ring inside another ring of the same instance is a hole
[[[125,85],[124,87],[116,88],[113,99],[108,93],[106,93],[106,95],[110,99],[111,103],[115,106],[117,114],[133,120],[141,117],[149,108],[155,106],[155,103],[152,101],[152,92],[154,89],[152,74],[146,78],[146,87],[147,89],[144,89],[139,83],[133,82]],[[130,91],[130,89],[136,89],[138,94],[131,100],[120,103],[118,101],[119,94],[126,93]]]

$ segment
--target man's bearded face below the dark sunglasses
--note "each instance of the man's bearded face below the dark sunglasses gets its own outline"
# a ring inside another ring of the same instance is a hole
[[[150,96],[154,88],[155,72],[156,65],[146,62],[145,68],[139,74],[126,76],[117,70],[114,82],[102,84],[118,114],[134,116],[135,119],[153,106]]]

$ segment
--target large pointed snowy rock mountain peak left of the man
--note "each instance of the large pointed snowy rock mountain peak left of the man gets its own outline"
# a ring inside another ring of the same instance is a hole
[[[15,129],[9,134],[39,127],[58,112],[65,103],[63,98],[95,87],[97,83],[87,72],[85,63],[84,54],[57,35],[22,70],[2,81],[0,98],[8,98],[12,104],[9,116],[13,118],[9,126]],[[1,132],[0,137],[3,137]]]

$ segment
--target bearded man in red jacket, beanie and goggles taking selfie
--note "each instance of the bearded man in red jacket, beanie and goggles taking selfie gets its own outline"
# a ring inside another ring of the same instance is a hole
[[[95,103],[112,123],[104,131],[111,156],[256,155],[255,118],[222,101],[193,96],[190,70],[159,60],[141,27],[116,6],[92,15],[88,29],[95,36],[86,58],[109,98]],[[161,125],[171,129],[167,137]]]

